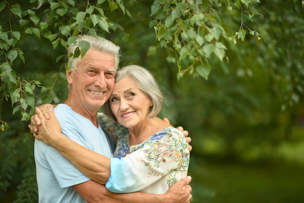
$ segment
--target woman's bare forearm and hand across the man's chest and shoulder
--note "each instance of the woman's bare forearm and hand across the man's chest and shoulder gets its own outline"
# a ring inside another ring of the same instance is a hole
[[[33,125],[38,128],[37,133],[34,134],[35,138],[57,149],[90,179],[105,184],[111,173],[110,159],[62,135],[60,124],[52,109],[48,109],[49,119],[46,119],[44,114],[39,108],[36,108],[34,117],[37,116],[40,119],[40,125],[34,122],[38,120],[37,118],[31,118],[32,126],[29,125],[29,128],[33,131]]]

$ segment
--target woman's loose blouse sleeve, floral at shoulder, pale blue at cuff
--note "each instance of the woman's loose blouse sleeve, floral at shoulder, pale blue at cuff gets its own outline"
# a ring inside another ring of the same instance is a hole
[[[116,193],[142,190],[178,168],[183,163],[186,141],[177,131],[152,137],[143,148],[117,159],[111,159],[107,189]]]

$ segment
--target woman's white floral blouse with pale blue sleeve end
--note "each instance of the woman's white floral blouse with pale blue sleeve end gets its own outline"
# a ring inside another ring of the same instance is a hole
[[[129,131],[98,114],[101,128],[117,142],[107,189],[117,193],[143,191],[164,194],[187,175],[189,149],[181,131],[167,127],[139,145],[129,146]],[[130,154],[126,154],[130,149]]]

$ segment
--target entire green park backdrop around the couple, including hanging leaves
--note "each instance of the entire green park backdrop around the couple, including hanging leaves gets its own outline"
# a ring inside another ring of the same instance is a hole
[[[0,2],[1,203],[37,202],[29,115],[34,106],[66,99],[65,43],[75,34],[92,34],[88,28],[121,47],[121,67],[139,64],[153,73],[165,95],[159,117],[189,131],[192,203],[303,203],[303,5],[302,0]],[[191,15],[197,21],[183,24]],[[82,29],[77,33],[75,27]]]

